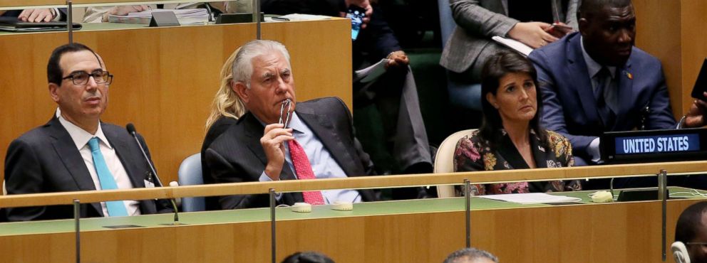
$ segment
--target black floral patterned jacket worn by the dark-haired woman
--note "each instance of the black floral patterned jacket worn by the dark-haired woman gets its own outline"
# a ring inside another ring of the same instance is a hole
[[[527,169],[530,166],[517,151],[515,145],[501,129],[503,138],[497,149],[490,149],[489,143],[479,136],[478,131],[464,136],[457,142],[454,151],[454,171],[495,171],[510,169]],[[569,140],[557,132],[547,131],[547,141],[551,146],[540,145],[540,138],[534,130],[530,130],[530,147],[537,168],[554,168],[574,166],[572,146]],[[475,195],[500,193],[530,193],[530,192],[561,192],[564,190],[581,190],[579,181],[550,182],[519,182],[493,183],[475,185],[472,192]]]

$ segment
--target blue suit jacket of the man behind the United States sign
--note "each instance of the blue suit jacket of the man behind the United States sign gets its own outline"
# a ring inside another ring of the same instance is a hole
[[[639,127],[641,111],[646,107],[646,129],[675,127],[661,62],[636,47],[628,62],[616,70],[619,110],[613,127],[604,127],[580,39],[579,33],[569,34],[528,57],[537,69],[545,128],[567,136],[574,154],[587,157],[587,146],[603,132]]]

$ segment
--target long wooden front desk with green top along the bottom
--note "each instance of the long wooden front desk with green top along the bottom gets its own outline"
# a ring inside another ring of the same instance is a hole
[[[674,190],[673,192],[675,192]],[[473,198],[472,245],[501,262],[661,262],[661,203],[515,205]],[[670,244],[681,211],[668,202]],[[277,209],[277,258],[302,250],[336,262],[442,262],[465,246],[462,198],[356,204],[353,211]],[[84,262],[269,262],[269,210],[182,213],[82,220]],[[104,225],[145,227],[108,230]],[[72,220],[0,224],[0,254],[10,262],[72,262]],[[671,259],[669,259],[671,262]]]

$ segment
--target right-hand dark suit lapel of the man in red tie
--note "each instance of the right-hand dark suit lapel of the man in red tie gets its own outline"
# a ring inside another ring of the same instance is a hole
[[[324,144],[326,150],[334,157],[336,163],[339,163],[344,173],[349,176],[358,176],[356,171],[354,171],[354,167],[356,167],[354,156],[344,146],[341,135],[334,129],[334,124],[329,119],[319,114],[304,111],[297,111],[297,116],[314,132],[321,144]]]

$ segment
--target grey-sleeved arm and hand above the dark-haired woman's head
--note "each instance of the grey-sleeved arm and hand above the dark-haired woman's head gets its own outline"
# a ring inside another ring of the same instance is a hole
[[[491,38],[503,36],[515,39],[531,48],[557,41],[545,32],[550,24],[542,22],[520,22],[480,6],[478,0],[450,0],[452,16],[458,26],[478,35]]]

